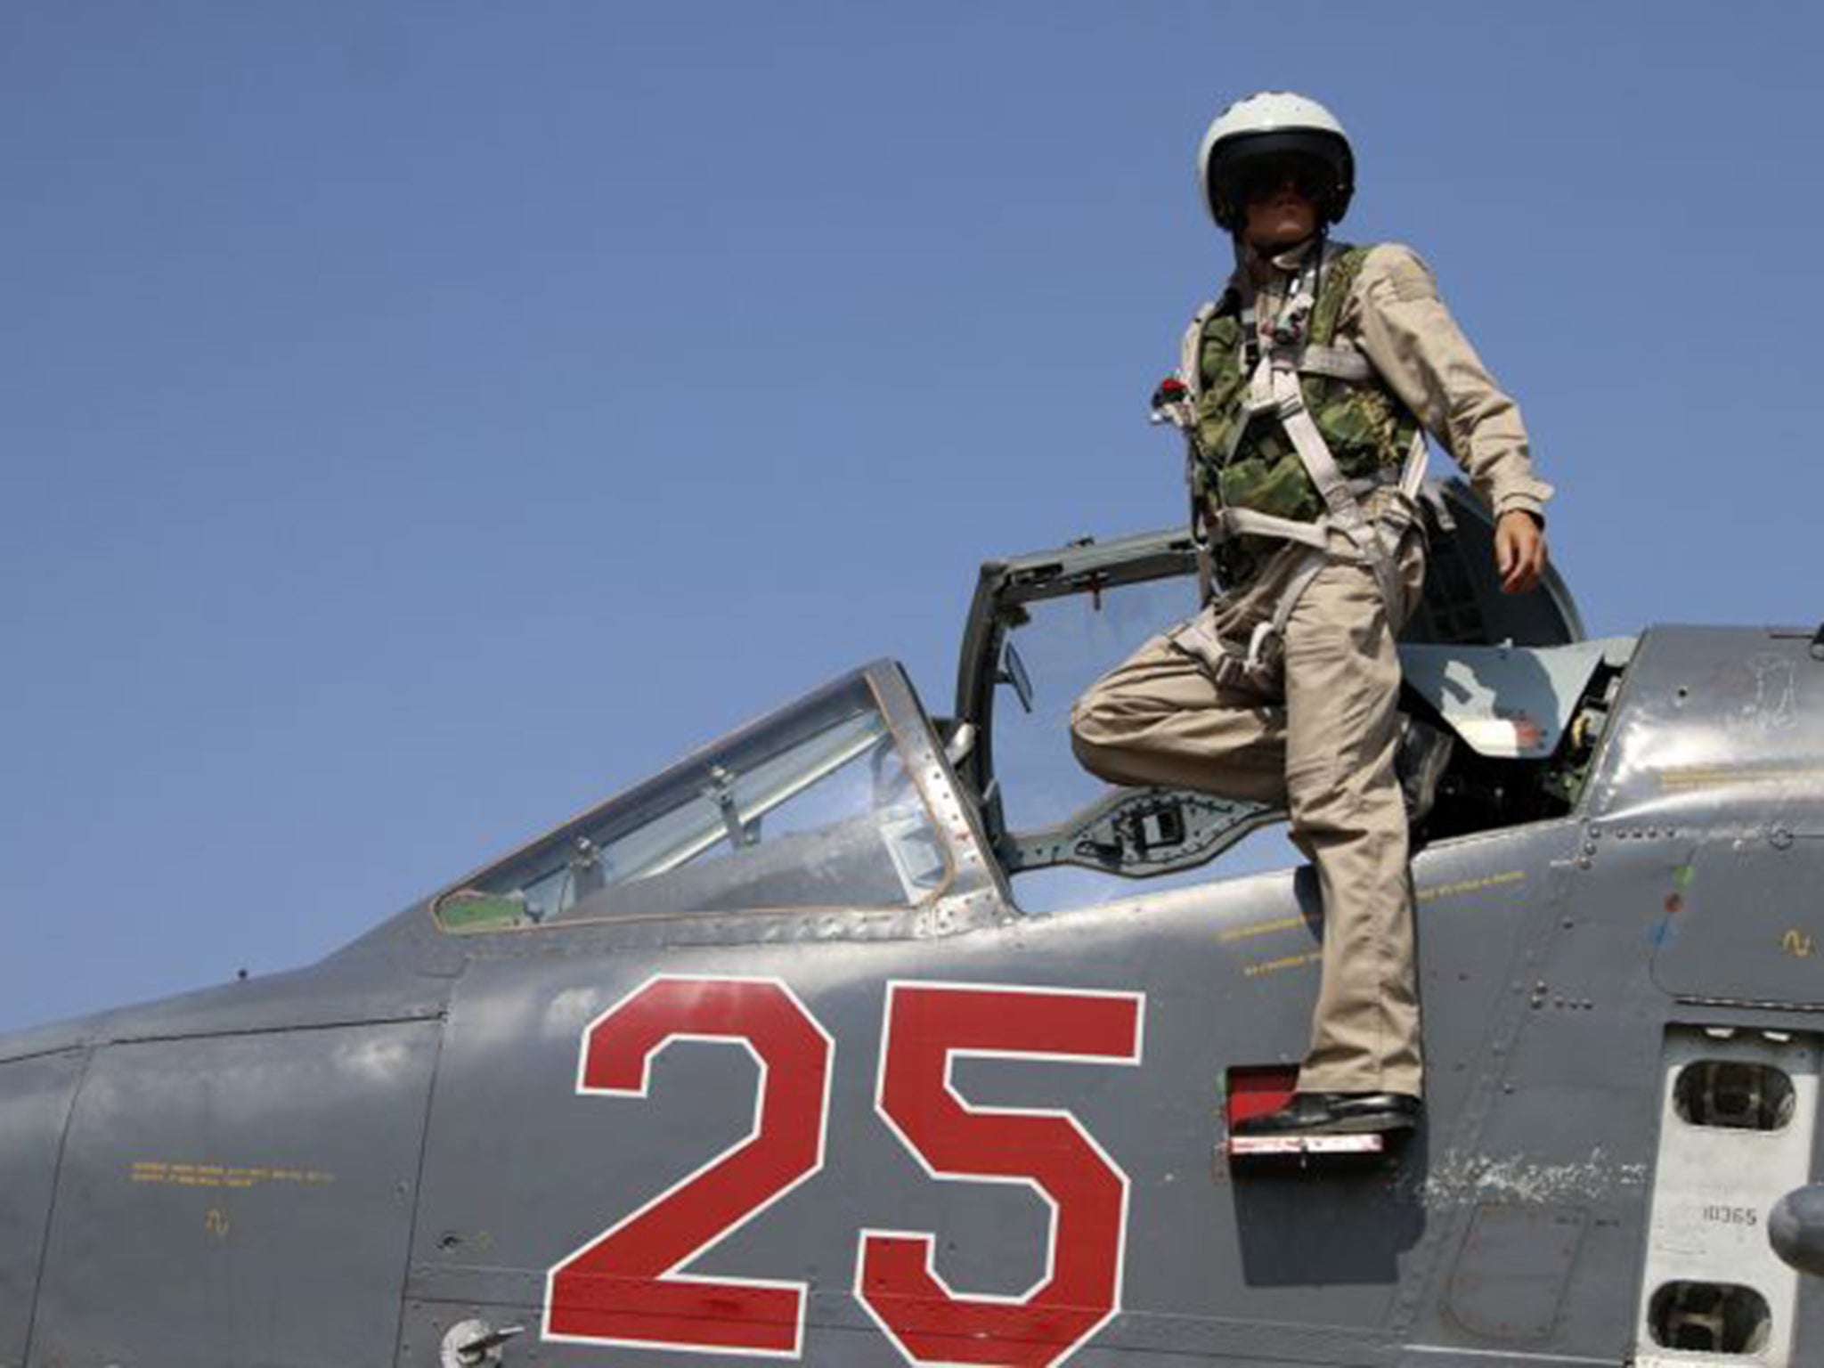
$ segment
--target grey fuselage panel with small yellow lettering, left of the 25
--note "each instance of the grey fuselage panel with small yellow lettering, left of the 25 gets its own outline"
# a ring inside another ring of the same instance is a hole
[[[390,1364],[438,1029],[97,1051],[31,1368]]]

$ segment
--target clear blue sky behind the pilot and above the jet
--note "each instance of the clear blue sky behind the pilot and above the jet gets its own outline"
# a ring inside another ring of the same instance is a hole
[[[1819,5],[0,7],[0,1027],[286,969],[1182,513],[1211,115],[1310,91],[1596,633],[1824,615]]]

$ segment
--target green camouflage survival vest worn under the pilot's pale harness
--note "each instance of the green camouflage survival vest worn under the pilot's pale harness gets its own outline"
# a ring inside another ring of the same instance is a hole
[[[1332,354],[1337,317],[1361,274],[1364,246],[1332,246],[1324,255],[1315,301],[1302,325],[1301,347]],[[1288,301],[1290,310],[1290,301]],[[1297,325],[1295,325],[1297,326]],[[1206,306],[1186,337],[1184,379],[1191,390],[1189,478],[1197,507],[1248,509],[1291,522],[1311,522],[1326,505],[1284,423],[1273,412],[1249,412],[1253,328],[1231,288]],[[1193,372],[1195,367],[1195,372]],[[1337,367],[1341,368],[1341,367]],[[1419,421],[1372,372],[1364,378],[1313,372],[1299,365],[1304,407],[1346,480],[1397,476],[1419,432]],[[1224,578],[1246,573],[1270,551],[1270,540],[1242,536],[1229,545]]]

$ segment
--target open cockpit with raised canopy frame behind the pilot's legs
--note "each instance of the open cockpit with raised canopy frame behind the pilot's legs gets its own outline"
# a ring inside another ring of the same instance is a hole
[[[1556,571],[1530,595],[1501,595],[1488,514],[1461,483],[1443,485],[1435,502],[1445,516],[1432,527],[1425,606],[1401,640],[1403,710],[1456,742],[1423,835],[1569,814],[1632,640],[1583,640]],[[979,739],[959,768],[1023,908],[1125,897],[1140,892],[1136,879],[1204,881],[1218,855],[1224,874],[1286,863],[1273,834],[1282,812],[1189,790],[1107,788],[1071,751],[1073,702],[1197,606],[1197,551],[1184,533],[1076,542],[983,567],[958,679],[958,724]]]

